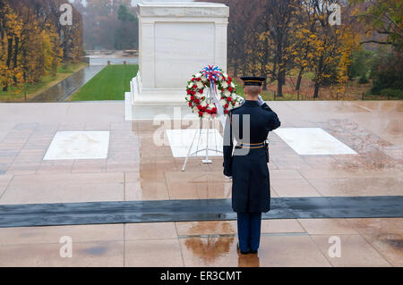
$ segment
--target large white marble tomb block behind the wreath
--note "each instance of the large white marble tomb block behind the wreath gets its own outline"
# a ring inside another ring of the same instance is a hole
[[[227,5],[141,3],[138,8],[139,72],[125,94],[130,105],[184,104],[192,74],[207,64],[227,70]]]

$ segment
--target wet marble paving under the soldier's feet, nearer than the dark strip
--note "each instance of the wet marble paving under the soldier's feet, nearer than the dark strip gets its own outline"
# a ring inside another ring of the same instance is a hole
[[[0,228],[0,266],[401,266],[400,220],[264,221],[271,225],[263,225],[258,254],[246,256],[227,221]],[[73,259],[58,255],[64,235],[73,238]],[[339,258],[328,255],[334,235]]]

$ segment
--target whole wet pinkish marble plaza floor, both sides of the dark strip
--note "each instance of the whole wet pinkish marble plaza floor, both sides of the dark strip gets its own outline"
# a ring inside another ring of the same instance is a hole
[[[272,197],[403,195],[401,102],[270,102],[270,107],[281,128],[322,129],[353,150],[301,155],[270,133]],[[231,197],[222,157],[211,157],[210,164],[191,158],[182,172],[184,157],[155,144],[160,128],[152,120],[125,122],[124,102],[0,104],[0,205]],[[80,147],[88,152],[85,145],[97,140],[86,137],[68,151],[59,147],[67,159],[44,159],[63,132],[107,132],[106,158],[94,151],[94,158],[68,159]],[[64,236],[73,239],[71,258],[59,254]],[[340,239],[340,257],[329,255],[333,236]],[[238,256],[236,241],[232,220],[11,226],[0,228],[0,266],[403,265],[403,217],[376,213],[264,220],[258,255]]]

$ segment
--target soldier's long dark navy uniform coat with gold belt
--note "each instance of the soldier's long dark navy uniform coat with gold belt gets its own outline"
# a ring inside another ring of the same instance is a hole
[[[264,147],[270,130],[279,128],[277,113],[269,105],[246,100],[229,111],[224,130],[224,175],[232,176],[232,207],[235,212],[270,211],[270,176]],[[244,144],[249,147],[236,147]]]

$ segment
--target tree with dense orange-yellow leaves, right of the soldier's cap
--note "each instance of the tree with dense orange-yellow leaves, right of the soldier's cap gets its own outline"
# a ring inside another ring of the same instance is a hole
[[[293,63],[299,68],[296,88],[299,88],[304,69],[313,72],[313,98],[319,96],[322,86],[330,86],[337,93],[344,92],[347,83],[347,68],[358,45],[358,36],[349,22],[336,25],[330,21],[333,5],[337,0],[308,0],[297,12],[294,40],[289,50],[293,51]],[[343,14],[349,19],[348,14]]]

